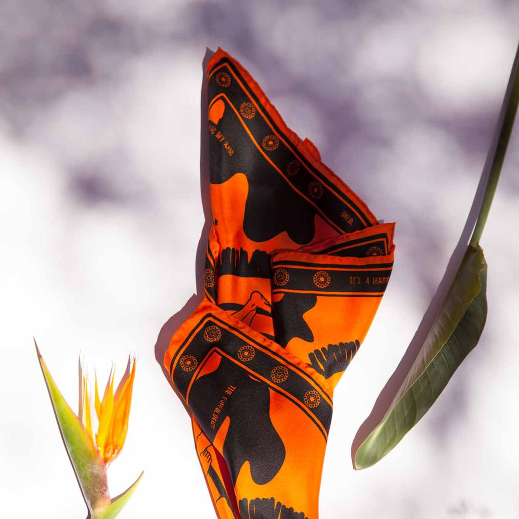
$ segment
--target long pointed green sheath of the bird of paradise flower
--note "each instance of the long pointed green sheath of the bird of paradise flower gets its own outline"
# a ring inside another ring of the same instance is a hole
[[[34,341],[34,344],[36,345],[36,341]],[[106,466],[85,426],[74,414],[69,404],[66,403],[56,383],[54,383],[37,345],[36,352],[61,432],[61,438],[76,473],[88,510],[93,515],[96,510],[104,508],[111,502],[108,495]]]

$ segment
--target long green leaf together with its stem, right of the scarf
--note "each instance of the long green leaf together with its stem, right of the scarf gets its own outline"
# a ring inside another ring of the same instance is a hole
[[[487,315],[487,264],[480,247],[480,238],[496,192],[517,113],[518,69],[519,46],[504,94],[495,138],[488,151],[482,175],[482,186],[486,180],[485,193],[469,247],[411,370],[383,419],[354,452],[353,466],[356,469],[371,467],[383,458],[427,413],[456,368],[476,346],[483,331]]]

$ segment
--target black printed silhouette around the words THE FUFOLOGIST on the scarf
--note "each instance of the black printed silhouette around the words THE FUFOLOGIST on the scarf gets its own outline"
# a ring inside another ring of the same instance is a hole
[[[268,483],[285,459],[285,447],[270,420],[269,387],[217,351],[206,365],[210,367],[201,367],[188,393],[189,407],[212,443],[220,428],[228,427],[222,454],[233,484],[246,461],[254,482]]]

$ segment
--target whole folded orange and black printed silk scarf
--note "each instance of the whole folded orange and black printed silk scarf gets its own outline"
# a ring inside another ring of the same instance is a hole
[[[317,519],[333,391],[393,265],[394,224],[222,49],[209,77],[205,297],[164,364],[220,519]]]

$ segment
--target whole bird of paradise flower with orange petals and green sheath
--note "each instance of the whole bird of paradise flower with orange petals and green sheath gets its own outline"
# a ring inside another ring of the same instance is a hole
[[[99,398],[97,376],[95,377],[94,408],[99,425],[94,435],[90,411],[92,399],[83,367],[80,365],[79,411],[76,415],[54,383],[36,341],[34,344],[61,437],[88,508],[87,519],[114,519],[124,508],[144,474],[142,472],[124,493],[114,499],[110,498],[106,469],[119,455],[126,440],[135,360],[132,363],[128,361],[127,374],[122,377],[115,393],[115,373],[112,370],[102,399]]]

